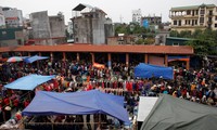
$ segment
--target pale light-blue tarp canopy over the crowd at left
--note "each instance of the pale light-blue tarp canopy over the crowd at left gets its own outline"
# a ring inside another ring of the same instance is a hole
[[[4,88],[17,90],[34,90],[37,86],[55,78],[55,76],[41,76],[31,74],[8,83]]]

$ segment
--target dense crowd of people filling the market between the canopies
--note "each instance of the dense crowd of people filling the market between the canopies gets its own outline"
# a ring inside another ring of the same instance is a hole
[[[11,114],[7,107],[22,110],[33,100],[35,92],[5,90],[4,84],[29,74],[56,75],[56,79],[38,86],[35,91],[75,92],[98,89],[102,92],[125,98],[125,107],[130,116],[135,115],[135,107],[139,96],[158,96],[161,93],[192,102],[217,106],[216,63],[209,62],[200,69],[184,69],[176,67],[174,79],[164,77],[138,78],[133,76],[133,67],[124,63],[113,63],[112,69],[97,68],[91,63],[43,60],[33,64],[3,63],[0,72],[1,100],[0,121],[7,121]],[[67,117],[69,118],[69,117]],[[65,117],[65,120],[67,120]]]

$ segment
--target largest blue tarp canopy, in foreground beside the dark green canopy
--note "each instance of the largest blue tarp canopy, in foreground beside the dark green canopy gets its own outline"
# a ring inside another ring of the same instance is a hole
[[[106,114],[129,125],[124,96],[102,93],[99,90],[65,93],[38,91],[31,103],[22,112],[24,116],[87,114]]]

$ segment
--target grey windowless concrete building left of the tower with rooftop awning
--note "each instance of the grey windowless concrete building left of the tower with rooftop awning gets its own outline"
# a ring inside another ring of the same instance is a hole
[[[65,42],[64,16],[48,16],[47,11],[30,14],[31,30],[27,44],[60,44]]]

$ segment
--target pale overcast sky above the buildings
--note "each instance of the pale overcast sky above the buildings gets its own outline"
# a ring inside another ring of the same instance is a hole
[[[132,10],[141,9],[142,16],[162,15],[163,22],[169,22],[169,9],[175,6],[199,5],[202,3],[217,5],[217,0],[0,0],[1,6],[16,8],[23,16],[38,11],[48,11],[49,15],[63,12],[65,23],[72,17],[72,9],[79,3],[102,9],[113,22],[129,23]]]

